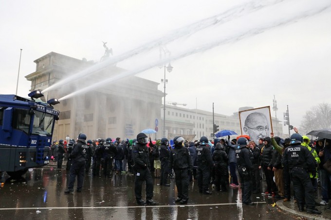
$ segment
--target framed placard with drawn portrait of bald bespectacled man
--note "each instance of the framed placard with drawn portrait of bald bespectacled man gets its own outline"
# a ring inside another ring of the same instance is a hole
[[[253,108],[239,112],[241,135],[248,135],[258,144],[259,138],[273,132],[270,106]]]

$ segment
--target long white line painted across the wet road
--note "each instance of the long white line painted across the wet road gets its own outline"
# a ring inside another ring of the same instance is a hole
[[[266,202],[255,202],[266,203]],[[0,210],[31,210],[31,209],[106,209],[106,208],[163,208],[163,207],[185,207],[185,206],[216,206],[216,205],[237,205],[240,203],[214,203],[214,204],[186,204],[186,205],[134,205],[134,206],[93,206],[93,207],[21,207],[21,208],[0,208]]]

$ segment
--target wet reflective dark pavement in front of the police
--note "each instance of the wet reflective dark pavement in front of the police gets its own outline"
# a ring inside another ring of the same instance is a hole
[[[69,195],[64,194],[67,171],[56,169],[54,163],[32,169],[23,177],[16,181],[2,173],[1,219],[297,219],[293,213],[272,207],[275,199],[259,194],[252,196],[254,206],[243,205],[240,188],[230,187],[228,192],[212,190],[212,195],[202,195],[193,181],[189,185],[188,204],[178,205],[174,202],[177,195],[174,179],[171,186],[157,186],[160,179],[155,178],[153,200],[158,205],[141,206],[134,197],[134,176],[128,174],[113,174],[111,178],[85,175],[82,192]],[[144,195],[143,190],[143,199]]]

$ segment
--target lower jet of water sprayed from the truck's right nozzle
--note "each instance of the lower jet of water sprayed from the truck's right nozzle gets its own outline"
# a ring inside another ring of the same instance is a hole
[[[137,73],[140,73],[140,72],[143,72],[147,69],[150,69],[150,68],[153,68],[153,67],[157,67],[157,66],[160,66],[160,65],[163,65],[165,63],[168,63],[170,61],[173,61],[173,60],[178,60],[178,59],[181,59],[183,57],[186,57],[186,56],[189,56],[189,55],[192,55],[194,53],[198,53],[198,52],[203,52],[203,51],[207,51],[209,49],[212,49],[212,48],[215,48],[215,47],[218,47],[218,46],[221,46],[221,45],[224,45],[224,44],[228,44],[228,43],[235,43],[243,38],[247,38],[247,37],[251,37],[251,36],[254,36],[254,35],[257,35],[257,34],[261,34],[263,32],[266,32],[268,30],[271,30],[271,29],[274,29],[274,28],[277,28],[277,27],[280,27],[282,25],[285,25],[285,24],[290,24],[290,23],[293,23],[293,22],[296,22],[297,20],[299,19],[302,19],[302,18],[306,18],[306,17],[311,17],[311,16],[314,16],[316,14],[319,14],[321,12],[323,12],[324,10],[328,9],[329,7],[331,7],[331,4],[327,5],[327,6],[323,6],[321,8],[318,8],[318,9],[314,9],[314,10],[311,10],[311,11],[308,11],[308,12],[304,12],[302,14],[299,14],[299,15],[293,15],[292,17],[287,17],[286,19],[279,19],[277,21],[275,21],[274,23],[272,24],[265,24],[265,25],[262,25],[261,27],[259,28],[256,28],[256,29],[253,29],[253,30],[249,30],[249,31],[246,31],[246,32],[242,32],[242,33],[239,33],[239,34],[235,34],[233,36],[229,36],[225,39],[219,39],[217,41],[214,41],[214,42],[211,42],[209,44],[204,44],[200,47],[197,47],[195,49],[191,49],[191,50],[188,50],[188,51],[184,51],[176,56],[172,56],[172,57],[169,57],[167,59],[163,59],[161,61],[157,61],[157,62],[154,62],[154,63],[151,63],[145,67],[142,67],[142,68],[137,68],[135,70],[131,70],[131,71],[126,71],[124,73],[121,73],[119,75],[116,75],[116,76],[113,76],[109,79],[106,79],[102,82],[99,82],[97,84],[93,84],[93,85],[90,85],[88,87],[84,87],[84,89],[81,89],[81,90],[77,90],[69,95],[66,95],[62,98],[59,99],[59,101],[61,100],[65,100],[65,99],[69,99],[75,95],[78,95],[78,94],[82,94],[82,93],[85,93],[85,92],[88,92],[88,91],[91,91],[93,89],[95,89],[97,86],[103,86],[103,85],[106,85],[106,84],[109,84],[109,83],[112,83],[112,82],[115,82],[119,79],[122,79],[122,78],[125,78],[125,77],[128,77],[128,76],[131,76],[131,75],[135,75]]]

